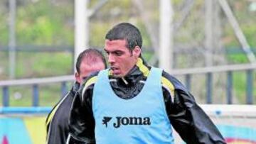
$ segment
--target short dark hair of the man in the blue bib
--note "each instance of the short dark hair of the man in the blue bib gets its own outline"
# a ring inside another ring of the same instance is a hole
[[[131,23],[119,23],[108,31],[107,40],[126,40],[127,48],[133,50],[135,46],[142,48],[142,35],[136,26]]]

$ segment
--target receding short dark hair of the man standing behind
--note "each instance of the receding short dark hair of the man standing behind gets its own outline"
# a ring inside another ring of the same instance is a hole
[[[90,60],[90,62],[97,62],[98,60],[102,60],[102,62],[105,65],[105,68],[107,67],[107,62],[100,50],[97,50],[95,48],[89,48],[87,50],[82,51],[77,58],[77,61],[75,63],[75,69],[80,74],[80,65],[83,58],[86,58],[87,60]]]

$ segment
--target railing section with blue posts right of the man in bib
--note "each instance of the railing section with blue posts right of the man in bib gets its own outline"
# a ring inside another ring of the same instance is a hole
[[[185,76],[185,86],[191,91],[191,77],[193,74],[206,75],[206,104],[212,104],[213,96],[213,74],[217,72],[227,73],[226,84],[226,103],[233,104],[233,72],[245,71],[246,80],[246,104],[253,104],[253,72],[256,70],[256,64],[245,65],[224,65],[215,67],[198,67],[193,69],[173,70],[171,74]]]

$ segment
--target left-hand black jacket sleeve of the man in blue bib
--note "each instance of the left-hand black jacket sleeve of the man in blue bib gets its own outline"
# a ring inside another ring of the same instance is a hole
[[[70,140],[68,143],[95,143],[95,121],[92,114],[92,90],[93,85],[82,85],[75,95],[70,111]],[[85,89],[82,95],[82,89]],[[83,97],[83,99],[82,99]]]

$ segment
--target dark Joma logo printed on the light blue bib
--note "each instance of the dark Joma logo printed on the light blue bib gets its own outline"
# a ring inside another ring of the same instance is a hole
[[[106,117],[104,117],[106,118]],[[110,118],[110,117],[109,117]],[[111,119],[111,118],[110,118]],[[109,121],[110,121],[109,119]],[[105,123],[106,124],[106,123]],[[127,125],[150,125],[151,121],[149,117],[116,117],[116,121],[113,123],[114,128]],[[107,127],[107,125],[106,125]]]

